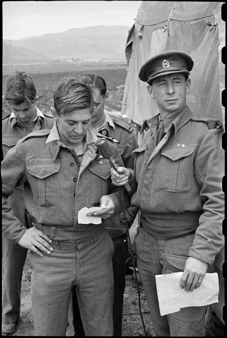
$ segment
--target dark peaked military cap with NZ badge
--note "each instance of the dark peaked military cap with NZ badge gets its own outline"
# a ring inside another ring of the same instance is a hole
[[[139,71],[141,81],[150,83],[153,79],[174,73],[189,75],[194,62],[192,58],[179,50],[168,50],[152,56]]]

